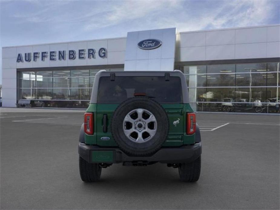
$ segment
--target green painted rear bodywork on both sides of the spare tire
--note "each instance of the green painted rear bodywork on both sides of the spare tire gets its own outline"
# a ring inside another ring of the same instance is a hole
[[[110,123],[118,105],[113,103],[91,103],[89,105],[87,112],[94,113],[94,135],[85,134],[85,143],[104,147],[117,146],[111,134]],[[195,143],[195,134],[186,135],[186,113],[193,112],[191,106],[188,103],[162,103],[161,106],[165,109],[169,118],[169,133],[163,146],[172,147]],[[106,133],[103,132],[104,114],[107,114],[108,117]],[[109,140],[101,140],[102,137],[108,137],[106,139]]]

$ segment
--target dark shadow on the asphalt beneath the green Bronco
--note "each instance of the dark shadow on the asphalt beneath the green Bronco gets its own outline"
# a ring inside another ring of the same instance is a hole
[[[141,167],[115,164],[102,169],[99,182],[84,183],[82,187],[94,191],[106,187],[117,191],[120,191],[120,189],[135,191],[137,189],[137,193],[143,191],[147,194],[154,191],[158,192],[159,189],[162,192],[170,192],[173,189],[184,189],[185,191],[186,188],[189,188],[191,191],[192,188],[197,187],[197,183],[180,181],[178,169],[167,167],[166,164],[157,163]],[[149,188],[149,191],[147,191],[147,188]]]

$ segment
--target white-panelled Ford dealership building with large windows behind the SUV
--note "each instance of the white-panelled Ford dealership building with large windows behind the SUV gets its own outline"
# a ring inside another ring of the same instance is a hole
[[[95,74],[185,74],[201,112],[279,113],[280,25],[177,32],[2,48],[2,106],[86,108]]]

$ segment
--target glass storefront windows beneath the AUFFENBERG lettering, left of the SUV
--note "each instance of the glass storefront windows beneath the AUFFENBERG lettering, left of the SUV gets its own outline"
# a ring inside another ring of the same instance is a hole
[[[95,74],[100,70],[19,71],[18,99],[32,100],[31,105],[35,107],[86,108]],[[105,70],[124,71],[124,68]]]

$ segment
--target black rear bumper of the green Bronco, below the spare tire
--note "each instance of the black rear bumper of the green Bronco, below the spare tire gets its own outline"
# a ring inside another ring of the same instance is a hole
[[[96,152],[99,153],[96,153]],[[103,152],[103,153],[102,153]],[[180,147],[163,147],[152,156],[133,157],[128,156],[117,147],[100,147],[79,143],[79,155],[90,163],[120,163],[120,162],[161,162],[161,163],[181,163],[192,162],[202,153],[201,143],[184,145]],[[96,154],[99,154],[98,157]],[[96,159],[101,158],[99,160]],[[101,161],[104,158],[104,161]]]

